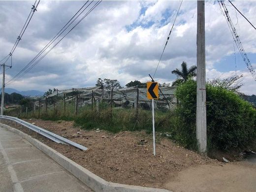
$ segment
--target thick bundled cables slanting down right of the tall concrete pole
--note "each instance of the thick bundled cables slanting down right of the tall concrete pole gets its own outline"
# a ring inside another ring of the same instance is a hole
[[[222,11],[222,13],[223,13],[223,15],[225,17],[225,20],[227,22],[228,28],[229,28],[229,30],[231,32],[231,35],[233,37],[233,40],[234,40],[234,42],[235,42],[235,44],[236,44],[236,46],[237,46],[237,48],[238,48],[238,50],[239,50],[239,52],[240,52],[240,54],[242,56],[242,58],[243,58],[243,60],[244,60],[244,62],[246,64],[247,68],[249,69],[250,73],[252,74],[253,78],[256,81],[255,70],[254,70],[250,60],[247,57],[247,54],[246,54],[246,52],[245,52],[245,50],[243,48],[243,45],[242,45],[241,40],[239,38],[239,35],[237,34],[236,29],[235,29],[235,27],[234,27],[234,25],[233,25],[233,23],[231,21],[231,18],[230,18],[229,14],[228,14],[228,10],[227,10],[227,8],[226,8],[226,6],[225,6],[225,4],[223,3],[222,0],[221,1],[218,0],[218,2],[219,2],[219,5],[220,5],[220,8],[221,8],[221,11]]]

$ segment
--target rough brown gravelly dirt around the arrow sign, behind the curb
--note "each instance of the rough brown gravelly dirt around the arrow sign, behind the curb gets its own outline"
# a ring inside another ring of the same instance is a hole
[[[160,135],[156,136],[157,156],[154,157],[152,135],[144,131],[113,134],[104,130],[81,130],[74,127],[73,122],[25,121],[88,147],[87,151],[81,151],[17,127],[109,182],[171,189],[166,184],[175,181],[180,171],[198,165],[219,164],[217,160],[201,157]]]

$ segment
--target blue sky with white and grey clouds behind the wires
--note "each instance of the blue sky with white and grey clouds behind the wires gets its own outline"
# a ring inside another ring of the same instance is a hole
[[[6,87],[46,91],[94,86],[97,78],[117,79],[123,86],[135,79],[149,81],[148,74],[156,69],[180,2],[102,1],[32,70]],[[0,58],[10,52],[33,3],[0,1]],[[84,3],[40,1],[13,54],[13,67],[6,71],[6,81],[31,61]],[[228,1],[225,3],[256,69],[256,30]],[[256,1],[233,3],[256,25]],[[256,82],[237,48],[234,54],[232,36],[217,1],[206,1],[205,22],[206,78],[226,78],[235,75],[236,69],[238,75],[244,75],[241,91],[256,94]],[[176,78],[171,71],[180,68],[182,61],[189,66],[196,64],[196,1],[183,1],[156,80],[171,83]]]

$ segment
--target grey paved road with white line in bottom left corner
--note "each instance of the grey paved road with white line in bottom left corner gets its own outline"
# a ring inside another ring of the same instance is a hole
[[[92,192],[27,140],[0,127],[0,192]]]

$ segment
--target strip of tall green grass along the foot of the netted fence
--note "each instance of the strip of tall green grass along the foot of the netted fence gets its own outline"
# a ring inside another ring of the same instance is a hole
[[[166,132],[170,130],[170,118],[171,112],[162,112],[156,110],[155,112],[155,127],[156,131]],[[78,108],[77,115],[75,115],[74,104],[66,104],[66,110],[64,113],[64,106],[62,104],[56,105],[56,109],[48,108],[41,109],[41,113],[38,111],[29,112],[28,114],[22,113],[19,118],[37,118],[42,120],[51,121],[74,121],[75,126],[80,126],[84,129],[104,129],[111,132],[119,131],[136,131],[146,130],[146,132],[152,132],[152,114],[147,110],[138,110],[136,115],[136,109],[124,109],[113,108],[112,110],[106,103],[100,103],[99,111],[96,111],[96,106],[92,110],[90,105],[85,105]]]

